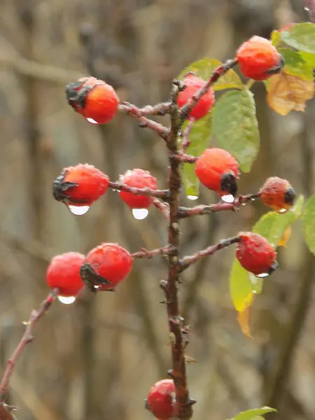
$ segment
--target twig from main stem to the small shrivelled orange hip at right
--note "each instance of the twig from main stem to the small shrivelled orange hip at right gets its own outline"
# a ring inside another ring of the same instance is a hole
[[[239,207],[244,204],[256,200],[260,197],[260,193],[239,195],[232,203],[219,202],[217,204],[200,205],[195,207],[179,207],[179,218],[186,218],[191,216],[204,216],[205,214],[216,213],[217,211],[238,211]]]

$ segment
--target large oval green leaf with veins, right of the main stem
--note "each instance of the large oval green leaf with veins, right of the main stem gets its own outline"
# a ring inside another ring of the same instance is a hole
[[[253,94],[247,89],[223,94],[213,118],[218,146],[238,160],[243,172],[249,172],[260,144]]]

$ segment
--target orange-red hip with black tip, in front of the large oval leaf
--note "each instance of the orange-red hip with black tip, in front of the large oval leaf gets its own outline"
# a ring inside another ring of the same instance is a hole
[[[197,159],[195,172],[209,190],[219,195],[236,195],[239,164],[227,151],[221,148],[206,149]]]

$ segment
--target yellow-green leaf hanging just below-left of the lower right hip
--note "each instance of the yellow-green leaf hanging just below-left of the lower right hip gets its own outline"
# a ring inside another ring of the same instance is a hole
[[[253,299],[253,286],[249,273],[241,267],[237,258],[235,258],[230,272],[230,295],[235,309],[239,312],[250,306]]]

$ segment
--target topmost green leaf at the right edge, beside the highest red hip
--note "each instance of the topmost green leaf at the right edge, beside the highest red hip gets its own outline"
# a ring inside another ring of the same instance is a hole
[[[280,33],[282,41],[296,50],[315,53],[315,25],[303,22]]]

